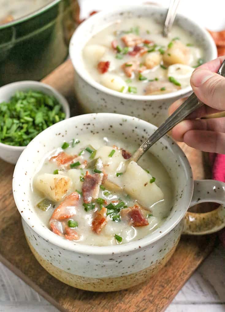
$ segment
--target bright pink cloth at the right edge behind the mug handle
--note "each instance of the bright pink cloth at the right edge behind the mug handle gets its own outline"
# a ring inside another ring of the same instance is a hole
[[[225,155],[209,153],[209,160],[212,165],[212,178],[225,182]],[[225,247],[225,229],[219,232],[219,238]]]

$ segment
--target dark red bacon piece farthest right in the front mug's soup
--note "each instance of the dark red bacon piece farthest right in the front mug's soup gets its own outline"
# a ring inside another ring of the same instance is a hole
[[[133,227],[143,227],[148,225],[148,220],[143,216],[139,205],[122,209],[120,214],[124,219],[129,220],[129,224]]]

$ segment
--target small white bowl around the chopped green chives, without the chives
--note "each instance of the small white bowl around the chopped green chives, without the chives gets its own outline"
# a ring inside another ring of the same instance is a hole
[[[18,81],[10,83],[8,85],[4,85],[0,88],[0,103],[8,101],[12,97],[12,95],[14,95],[18,90],[35,90],[41,91],[47,95],[53,95],[56,100],[58,100],[58,102],[62,105],[65,112],[65,119],[70,117],[69,104],[65,97],[62,96],[53,87],[50,87],[49,85],[38,81]],[[0,143],[0,158],[7,161],[8,163],[15,164],[25,148],[26,146],[12,146]]]

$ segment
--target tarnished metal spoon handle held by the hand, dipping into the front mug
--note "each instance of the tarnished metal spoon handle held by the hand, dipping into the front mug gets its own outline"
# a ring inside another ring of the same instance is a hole
[[[225,77],[225,60],[220,66],[218,72],[219,75]],[[184,120],[190,113],[204,105],[197,96],[192,93],[186,101],[175,112],[167,118],[163,124],[139,147],[133,154],[131,160],[138,161],[138,159],[162,136],[169,132],[176,124]]]

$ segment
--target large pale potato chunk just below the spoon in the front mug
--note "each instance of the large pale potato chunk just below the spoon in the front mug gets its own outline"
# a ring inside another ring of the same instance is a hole
[[[150,183],[151,178],[151,174],[147,173],[134,161],[129,163],[126,172],[122,176],[124,191],[146,209],[164,198],[156,183]]]

